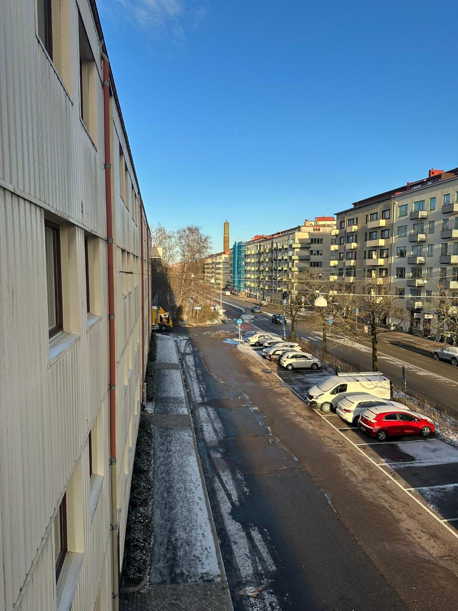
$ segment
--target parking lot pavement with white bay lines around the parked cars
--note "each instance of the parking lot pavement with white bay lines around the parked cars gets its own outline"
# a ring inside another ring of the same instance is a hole
[[[248,327],[248,325],[244,325]],[[246,339],[252,332],[260,331],[252,324],[244,331]],[[272,371],[280,382],[305,401],[308,390],[330,374],[324,370],[287,371],[261,357],[260,348],[248,343],[239,346],[258,359],[265,373]],[[306,409],[312,409],[307,405]],[[433,514],[454,536],[458,536],[458,449],[432,436],[397,437],[380,442],[363,433],[335,413],[324,414],[314,410],[329,426],[354,445],[368,461],[383,470],[393,485],[401,487],[405,494],[416,500],[425,511]],[[440,425],[439,425],[440,426]]]

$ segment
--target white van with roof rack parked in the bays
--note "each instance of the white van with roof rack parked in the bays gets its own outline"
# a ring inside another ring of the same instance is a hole
[[[347,395],[361,393],[375,395],[380,399],[391,399],[393,385],[380,371],[339,373],[325,378],[317,386],[312,386],[307,394],[307,403],[312,408],[321,408],[323,412],[330,412]]]

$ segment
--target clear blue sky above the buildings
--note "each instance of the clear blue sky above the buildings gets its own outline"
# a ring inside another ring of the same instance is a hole
[[[456,2],[98,6],[148,219],[214,251],[458,166]]]

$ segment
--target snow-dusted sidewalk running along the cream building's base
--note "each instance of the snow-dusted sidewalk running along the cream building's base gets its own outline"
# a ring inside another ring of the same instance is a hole
[[[148,406],[149,407],[149,406]],[[157,337],[153,532],[147,583],[122,611],[228,611],[230,593],[173,338]]]

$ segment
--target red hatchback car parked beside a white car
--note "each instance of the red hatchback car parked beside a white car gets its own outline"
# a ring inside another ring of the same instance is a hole
[[[429,437],[434,433],[434,422],[408,409],[387,409],[387,405],[366,409],[359,420],[360,429],[379,441],[387,437],[420,435]]]

